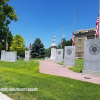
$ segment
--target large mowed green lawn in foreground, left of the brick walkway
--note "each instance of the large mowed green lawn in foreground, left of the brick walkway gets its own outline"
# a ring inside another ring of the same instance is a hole
[[[5,91],[14,100],[99,100],[100,85],[39,73],[38,61],[0,61],[0,88],[38,88]]]

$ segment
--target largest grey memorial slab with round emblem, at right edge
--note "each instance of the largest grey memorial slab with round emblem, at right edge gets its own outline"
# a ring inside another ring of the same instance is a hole
[[[82,73],[100,76],[100,39],[84,41],[84,70]]]

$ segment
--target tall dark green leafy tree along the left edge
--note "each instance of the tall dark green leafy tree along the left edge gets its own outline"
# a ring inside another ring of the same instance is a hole
[[[0,51],[6,49],[7,33],[8,33],[8,46],[11,45],[13,36],[9,31],[8,25],[13,20],[18,21],[14,7],[8,5],[7,4],[8,1],[10,0],[0,0],[0,44],[2,44],[2,48],[0,48]]]

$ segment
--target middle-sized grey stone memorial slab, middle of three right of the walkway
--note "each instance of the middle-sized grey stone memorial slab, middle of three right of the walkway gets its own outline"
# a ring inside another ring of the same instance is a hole
[[[64,65],[66,66],[75,66],[75,46],[65,46],[64,51]]]

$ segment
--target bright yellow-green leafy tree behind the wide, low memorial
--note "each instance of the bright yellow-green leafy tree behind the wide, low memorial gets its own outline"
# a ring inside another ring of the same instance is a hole
[[[25,41],[21,35],[15,35],[11,43],[10,51],[17,51],[18,56],[25,55]]]

